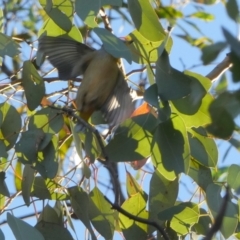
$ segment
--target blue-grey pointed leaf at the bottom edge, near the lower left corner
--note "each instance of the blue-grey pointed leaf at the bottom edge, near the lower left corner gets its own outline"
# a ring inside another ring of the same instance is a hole
[[[43,235],[28,223],[7,213],[7,222],[16,240],[44,240]]]

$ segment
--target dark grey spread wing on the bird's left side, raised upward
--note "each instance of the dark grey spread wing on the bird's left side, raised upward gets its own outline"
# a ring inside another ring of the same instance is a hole
[[[67,80],[83,74],[88,61],[82,59],[95,50],[69,38],[44,36],[39,39],[39,51],[45,53],[58,69],[59,79]],[[90,61],[90,58],[86,59]],[[78,71],[74,70],[76,65],[79,66]]]

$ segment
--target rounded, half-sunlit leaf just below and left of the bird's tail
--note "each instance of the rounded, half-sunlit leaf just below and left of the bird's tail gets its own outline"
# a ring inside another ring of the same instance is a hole
[[[58,133],[63,128],[64,120],[58,110],[50,107],[42,108],[29,119],[28,129],[41,128],[44,133]]]

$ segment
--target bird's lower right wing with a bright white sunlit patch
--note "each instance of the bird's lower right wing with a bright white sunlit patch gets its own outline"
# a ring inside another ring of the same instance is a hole
[[[134,111],[130,88],[119,70],[118,80],[112,93],[101,107],[101,112],[111,127],[129,118]]]

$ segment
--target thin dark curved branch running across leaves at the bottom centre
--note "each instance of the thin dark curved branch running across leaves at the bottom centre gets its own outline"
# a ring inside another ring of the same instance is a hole
[[[118,204],[112,203],[106,196],[104,196],[104,198],[106,199],[106,201],[108,203],[111,204],[112,209],[117,210],[118,212],[122,213],[124,216],[126,216],[126,217],[128,217],[128,218],[130,218],[134,221],[137,221],[137,222],[140,222],[140,223],[145,223],[147,225],[151,225],[151,226],[155,227],[162,234],[162,237],[165,240],[169,240],[169,237],[167,236],[164,229],[158,223],[156,223],[155,221],[150,221],[150,220],[147,220],[145,218],[140,218],[138,216],[132,215],[131,213],[129,213],[126,210],[124,210],[123,208],[121,208]]]

